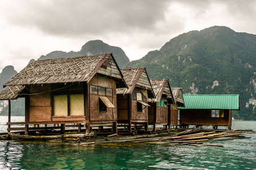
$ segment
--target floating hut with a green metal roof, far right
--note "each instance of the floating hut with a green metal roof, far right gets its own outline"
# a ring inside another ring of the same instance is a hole
[[[240,109],[239,95],[183,95],[186,107],[180,107],[180,124],[232,126],[232,110]]]

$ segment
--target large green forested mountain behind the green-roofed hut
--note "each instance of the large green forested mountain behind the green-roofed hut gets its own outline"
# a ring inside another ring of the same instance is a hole
[[[256,35],[218,26],[190,31],[124,67],[146,67],[183,94],[239,94],[234,118],[256,120]]]

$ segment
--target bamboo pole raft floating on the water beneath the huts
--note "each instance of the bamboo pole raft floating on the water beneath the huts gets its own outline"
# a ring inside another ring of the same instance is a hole
[[[203,145],[217,146],[223,145],[205,144],[208,141],[232,141],[234,139],[245,139],[250,137],[241,136],[242,133],[255,133],[252,130],[226,130],[226,131],[200,131],[199,128],[187,129],[180,133],[171,133],[171,130],[158,131],[154,134],[135,135],[122,137],[118,133],[106,135],[105,137],[95,137],[94,133],[83,134],[62,134],[62,135],[19,135],[8,133],[1,135],[0,139],[28,139],[28,140],[52,140],[59,139],[61,142],[69,142],[73,145],[89,146],[89,145],[104,145],[106,143],[154,143],[156,145]],[[163,135],[164,134],[164,135]],[[232,138],[231,138],[232,137]]]

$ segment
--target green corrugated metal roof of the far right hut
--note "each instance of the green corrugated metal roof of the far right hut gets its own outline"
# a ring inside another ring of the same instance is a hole
[[[185,108],[239,110],[239,95],[183,95]]]

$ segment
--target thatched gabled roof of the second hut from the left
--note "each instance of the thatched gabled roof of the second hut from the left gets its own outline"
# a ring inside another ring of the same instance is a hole
[[[150,81],[145,68],[120,69],[127,88],[117,88],[117,94],[131,94],[135,87],[152,91]],[[153,93],[153,92],[152,92]],[[154,96],[154,94],[150,95]]]

